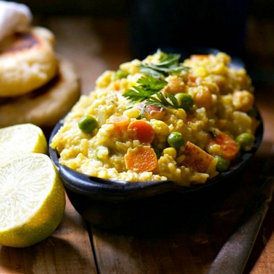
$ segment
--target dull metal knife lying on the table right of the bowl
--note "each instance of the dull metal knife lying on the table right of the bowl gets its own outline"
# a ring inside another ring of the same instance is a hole
[[[254,197],[250,206],[244,211],[236,231],[221,248],[208,274],[243,273],[268,211],[273,191],[274,177],[268,177],[260,187],[259,193]]]

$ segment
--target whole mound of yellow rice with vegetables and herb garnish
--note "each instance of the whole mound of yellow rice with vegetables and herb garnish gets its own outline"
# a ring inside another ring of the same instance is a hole
[[[106,179],[190,186],[250,150],[258,121],[246,71],[225,53],[179,58],[158,50],[103,73],[52,138],[60,164]]]

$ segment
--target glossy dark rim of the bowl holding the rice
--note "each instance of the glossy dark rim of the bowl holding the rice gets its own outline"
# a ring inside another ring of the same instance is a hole
[[[258,109],[257,109],[258,111]],[[205,183],[195,184],[191,186],[182,186],[174,183],[171,180],[163,181],[121,181],[112,179],[103,179],[99,177],[89,176],[84,173],[75,171],[65,165],[59,163],[57,150],[49,146],[49,155],[54,165],[59,171],[59,175],[64,182],[64,185],[79,194],[92,196],[96,199],[134,199],[144,196],[154,196],[155,194],[162,194],[170,191],[179,191],[184,193],[194,192],[211,187],[215,184],[220,184],[224,179],[229,178],[235,172],[246,165],[249,159],[255,154],[259,148],[263,135],[264,123],[261,114],[258,111],[258,126],[255,134],[255,144],[250,151],[241,153],[236,159],[235,164],[232,164],[227,171],[220,172],[213,178],[208,179]],[[64,117],[55,125],[49,138],[49,144],[53,136],[63,125]]]

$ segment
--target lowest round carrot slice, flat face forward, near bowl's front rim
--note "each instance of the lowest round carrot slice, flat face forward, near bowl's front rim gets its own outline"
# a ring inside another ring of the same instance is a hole
[[[136,172],[152,171],[157,165],[157,156],[150,147],[140,146],[125,155],[126,168]]]

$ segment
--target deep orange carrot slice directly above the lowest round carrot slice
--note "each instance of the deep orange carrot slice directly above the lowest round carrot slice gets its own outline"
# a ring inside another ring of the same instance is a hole
[[[152,127],[142,120],[136,120],[128,126],[129,137],[140,142],[151,143],[154,139],[154,131]]]

